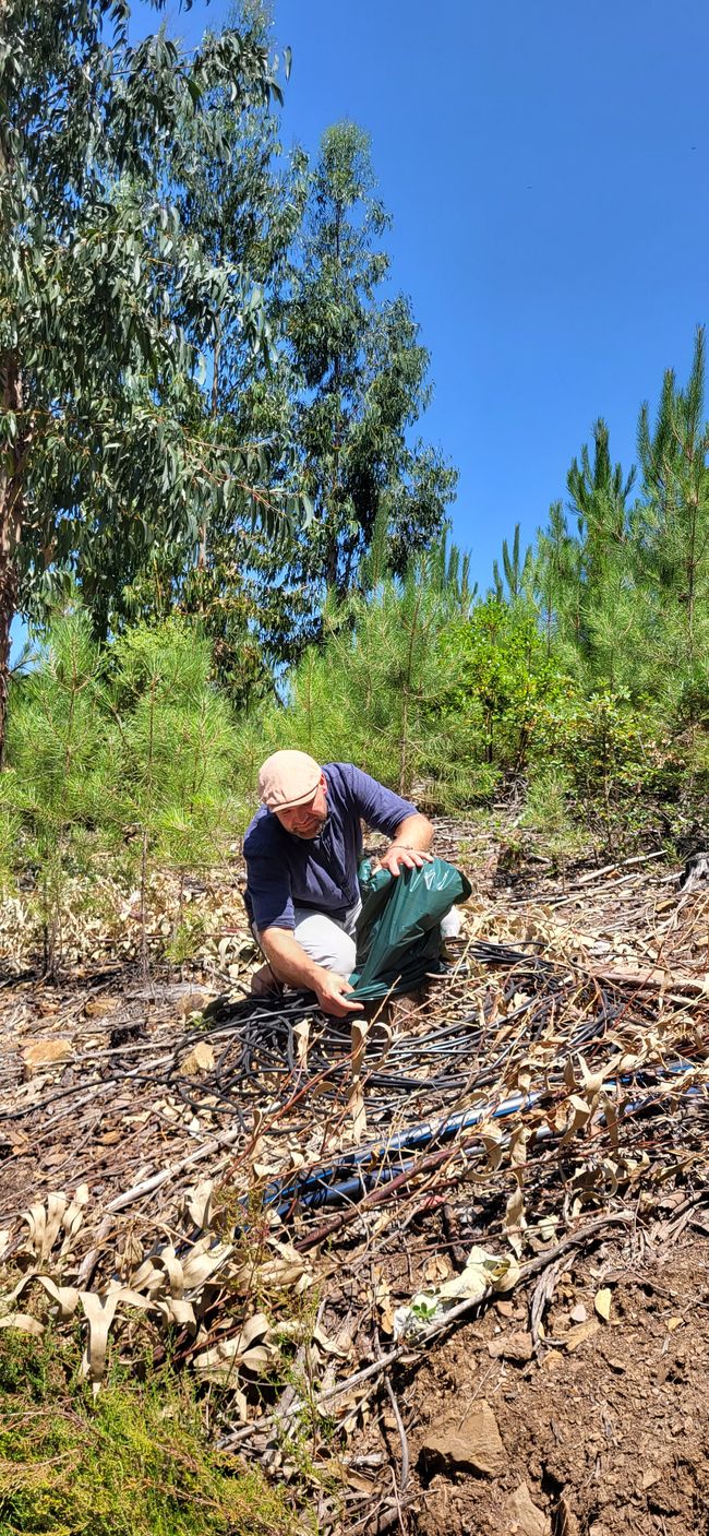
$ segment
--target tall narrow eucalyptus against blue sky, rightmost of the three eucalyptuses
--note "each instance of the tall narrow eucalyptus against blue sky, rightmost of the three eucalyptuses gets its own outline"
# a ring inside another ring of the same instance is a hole
[[[440,533],[456,473],[410,433],[430,398],[428,353],[411,306],[388,295],[390,220],[376,197],[368,135],[327,129],[312,186],[287,309],[296,393],[292,438],[315,518],[295,541],[285,576],[312,593],[312,622],[293,627],[298,651],[319,633],[327,588],[342,598],[378,516],[388,522],[390,565]]]

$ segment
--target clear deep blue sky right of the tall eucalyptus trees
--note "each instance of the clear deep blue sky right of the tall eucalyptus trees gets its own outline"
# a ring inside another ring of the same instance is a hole
[[[147,12],[140,6],[140,15]],[[193,40],[227,0],[169,11]],[[628,468],[641,399],[707,315],[706,0],[273,0],[284,143],[371,134],[391,276],[431,353],[425,435],[490,579],[565,493],[597,415]]]

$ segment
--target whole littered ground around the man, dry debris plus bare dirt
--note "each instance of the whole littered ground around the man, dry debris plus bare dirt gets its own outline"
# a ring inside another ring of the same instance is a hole
[[[48,986],[18,946],[0,1339],[80,1318],[97,1390],[112,1352],[169,1347],[223,1448],[305,1488],[322,1533],[689,1536],[709,900],[661,860],[505,889],[465,829],[444,852],[463,836],[451,971],[358,1038],[239,1003],[258,957],[233,880],[195,892],[181,980],[146,985],[109,942],[92,966],[77,928]],[[451,1450],[483,1418],[486,1470]]]

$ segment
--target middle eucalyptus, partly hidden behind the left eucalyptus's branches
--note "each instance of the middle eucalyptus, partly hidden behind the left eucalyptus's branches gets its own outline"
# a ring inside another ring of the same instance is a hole
[[[264,51],[270,46],[270,12],[262,0],[239,0],[233,18],[241,34]],[[292,252],[304,214],[308,163],[295,146],[284,152],[272,100],[213,92],[224,154],[209,154],[204,127],[190,117],[180,137],[181,212],[215,264],[229,261],[247,273],[258,293],[269,347],[255,347],[242,324],[242,304],[216,303],[203,350],[207,355],[207,432],[221,442],[261,444],[276,450],[289,441],[292,369],[284,349],[284,315]],[[275,479],[281,495],[298,487],[298,465],[279,455]],[[175,573],[173,594],[196,613],[212,641],[213,671],[236,703],[272,687],[279,633],[290,594],[278,578],[281,550],[269,530],[253,525],[249,508],[207,508],[198,547]]]

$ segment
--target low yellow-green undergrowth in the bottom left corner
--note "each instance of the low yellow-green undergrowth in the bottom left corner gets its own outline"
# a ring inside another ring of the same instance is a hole
[[[315,1536],[210,1445],[186,1378],[120,1367],[94,1401],[69,1339],[0,1333],[0,1536]]]

